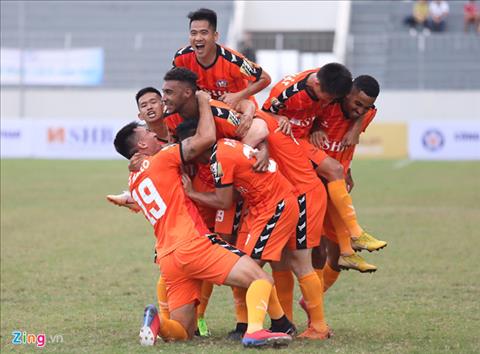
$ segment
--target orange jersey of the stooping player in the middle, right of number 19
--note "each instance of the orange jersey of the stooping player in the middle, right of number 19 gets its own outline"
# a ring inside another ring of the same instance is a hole
[[[278,202],[291,195],[292,185],[271,160],[268,171],[253,170],[256,160],[250,158],[254,149],[239,141],[222,139],[214,147],[210,166],[217,188],[234,186],[240,192],[251,215],[275,208]]]

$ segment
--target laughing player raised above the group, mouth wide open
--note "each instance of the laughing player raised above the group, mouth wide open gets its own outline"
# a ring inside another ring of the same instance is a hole
[[[175,54],[173,65],[185,67],[198,75],[198,86],[213,99],[236,108],[244,99],[255,102],[253,95],[266,88],[270,76],[242,54],[217,43],[217,14],[199,9],[188,15],[190,46]]]

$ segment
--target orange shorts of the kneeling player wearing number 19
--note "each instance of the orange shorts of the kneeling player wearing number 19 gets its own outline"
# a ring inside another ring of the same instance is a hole
[[[223,284],[244,253],[217,235],[195,237],[159,260],[168,309],[199,303],[202,281]]]

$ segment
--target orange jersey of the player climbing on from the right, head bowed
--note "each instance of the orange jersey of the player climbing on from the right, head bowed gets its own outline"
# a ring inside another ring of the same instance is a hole
[[[264,111],[290,119],[296,138],[308,135],[315,117],[328,103],[316,98],[307,88],[308,77],[317,71],[312,69],[286,76],[272,88],[262,107]]]

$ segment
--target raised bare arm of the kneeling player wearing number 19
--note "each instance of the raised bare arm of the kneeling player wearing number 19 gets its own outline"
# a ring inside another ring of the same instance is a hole
[[[181,145],[182,160],[190,161],[207,150],[216,141],[215,122],[210,108],[210,95],[198,90],[195,93],[198,100],[199,119],[195,135],[185,139]]]

